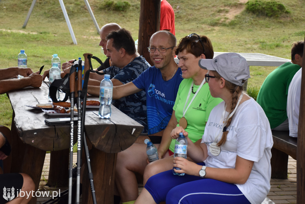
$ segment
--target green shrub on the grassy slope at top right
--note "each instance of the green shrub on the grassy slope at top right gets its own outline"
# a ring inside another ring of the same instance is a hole
[[[250,0],[246,3],[246,10],[267,17],[280,17],[284,13],[290,13],[283,4],[275,1]]]

